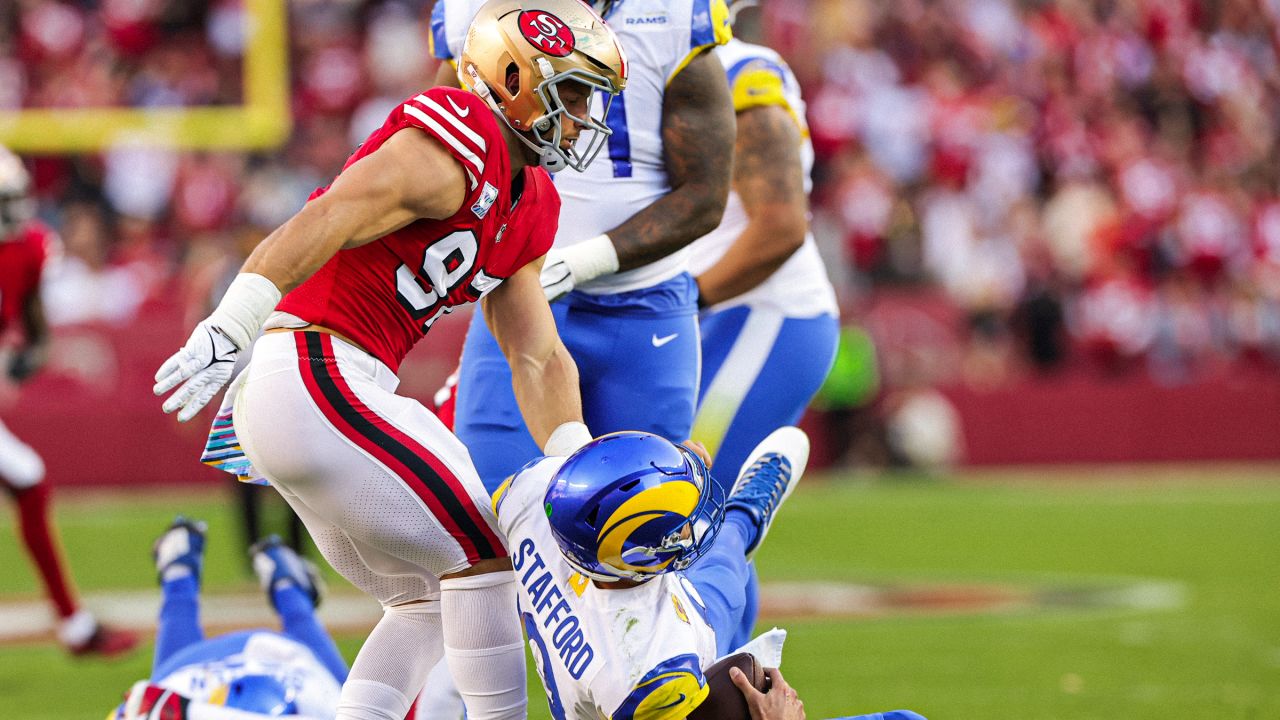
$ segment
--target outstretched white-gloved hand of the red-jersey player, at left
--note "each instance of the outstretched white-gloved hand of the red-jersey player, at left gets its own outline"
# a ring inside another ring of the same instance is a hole
[[[232,379],[239,354],[241,348],[223,328],[212,320],[202,320],[187,345],[160,365],[151,391],[164,395],[183,383],[164,401],[164,411],[178,410],[178,420],[186,423]]]

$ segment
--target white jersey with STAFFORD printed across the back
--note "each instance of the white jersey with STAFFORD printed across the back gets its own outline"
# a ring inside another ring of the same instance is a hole
[[[573,571],[543,497],[563,457],[526,466],[494,493],[520,585],[520,615],[554,720],[677,720],[707,697],[716,633],[680,573],[600,589]]]

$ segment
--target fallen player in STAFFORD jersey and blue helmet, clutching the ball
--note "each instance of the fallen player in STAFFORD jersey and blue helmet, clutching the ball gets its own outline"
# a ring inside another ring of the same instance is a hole
[[[748,562],[808,456],[803,432],[774,432],[726,502],[694,450],[614,433],[499,488],[498,525],[554,719],[675,720],[708,697],[703,670],[735,650]],[[783,637],[745,650],[776,667]],[[799,702],[777,710],[776,720],[804,716]]]

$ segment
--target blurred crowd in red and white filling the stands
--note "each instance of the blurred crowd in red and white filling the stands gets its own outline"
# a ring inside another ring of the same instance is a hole
[[[431,0],[293,0],[294,135],[269,154],[33,158],[55,323],[239,259],[430,83]],[[765,0],[810,105],[815,225],[850,316],[961,310],[964,373],[1179,383],[1280,368],[1280,0]],[[0,5],[0,109],[241,101],[239,0]]]

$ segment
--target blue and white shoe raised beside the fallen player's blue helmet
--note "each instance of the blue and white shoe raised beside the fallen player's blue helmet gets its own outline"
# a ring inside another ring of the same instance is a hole
[[[755,520],[758,532],[746,548],[748,560],[755,556],[769,533],[773,516],[800,482],[808,462],[809,437],[790,425],[773,430],[746,456],[724,503],[724,512],[741,510]]]

